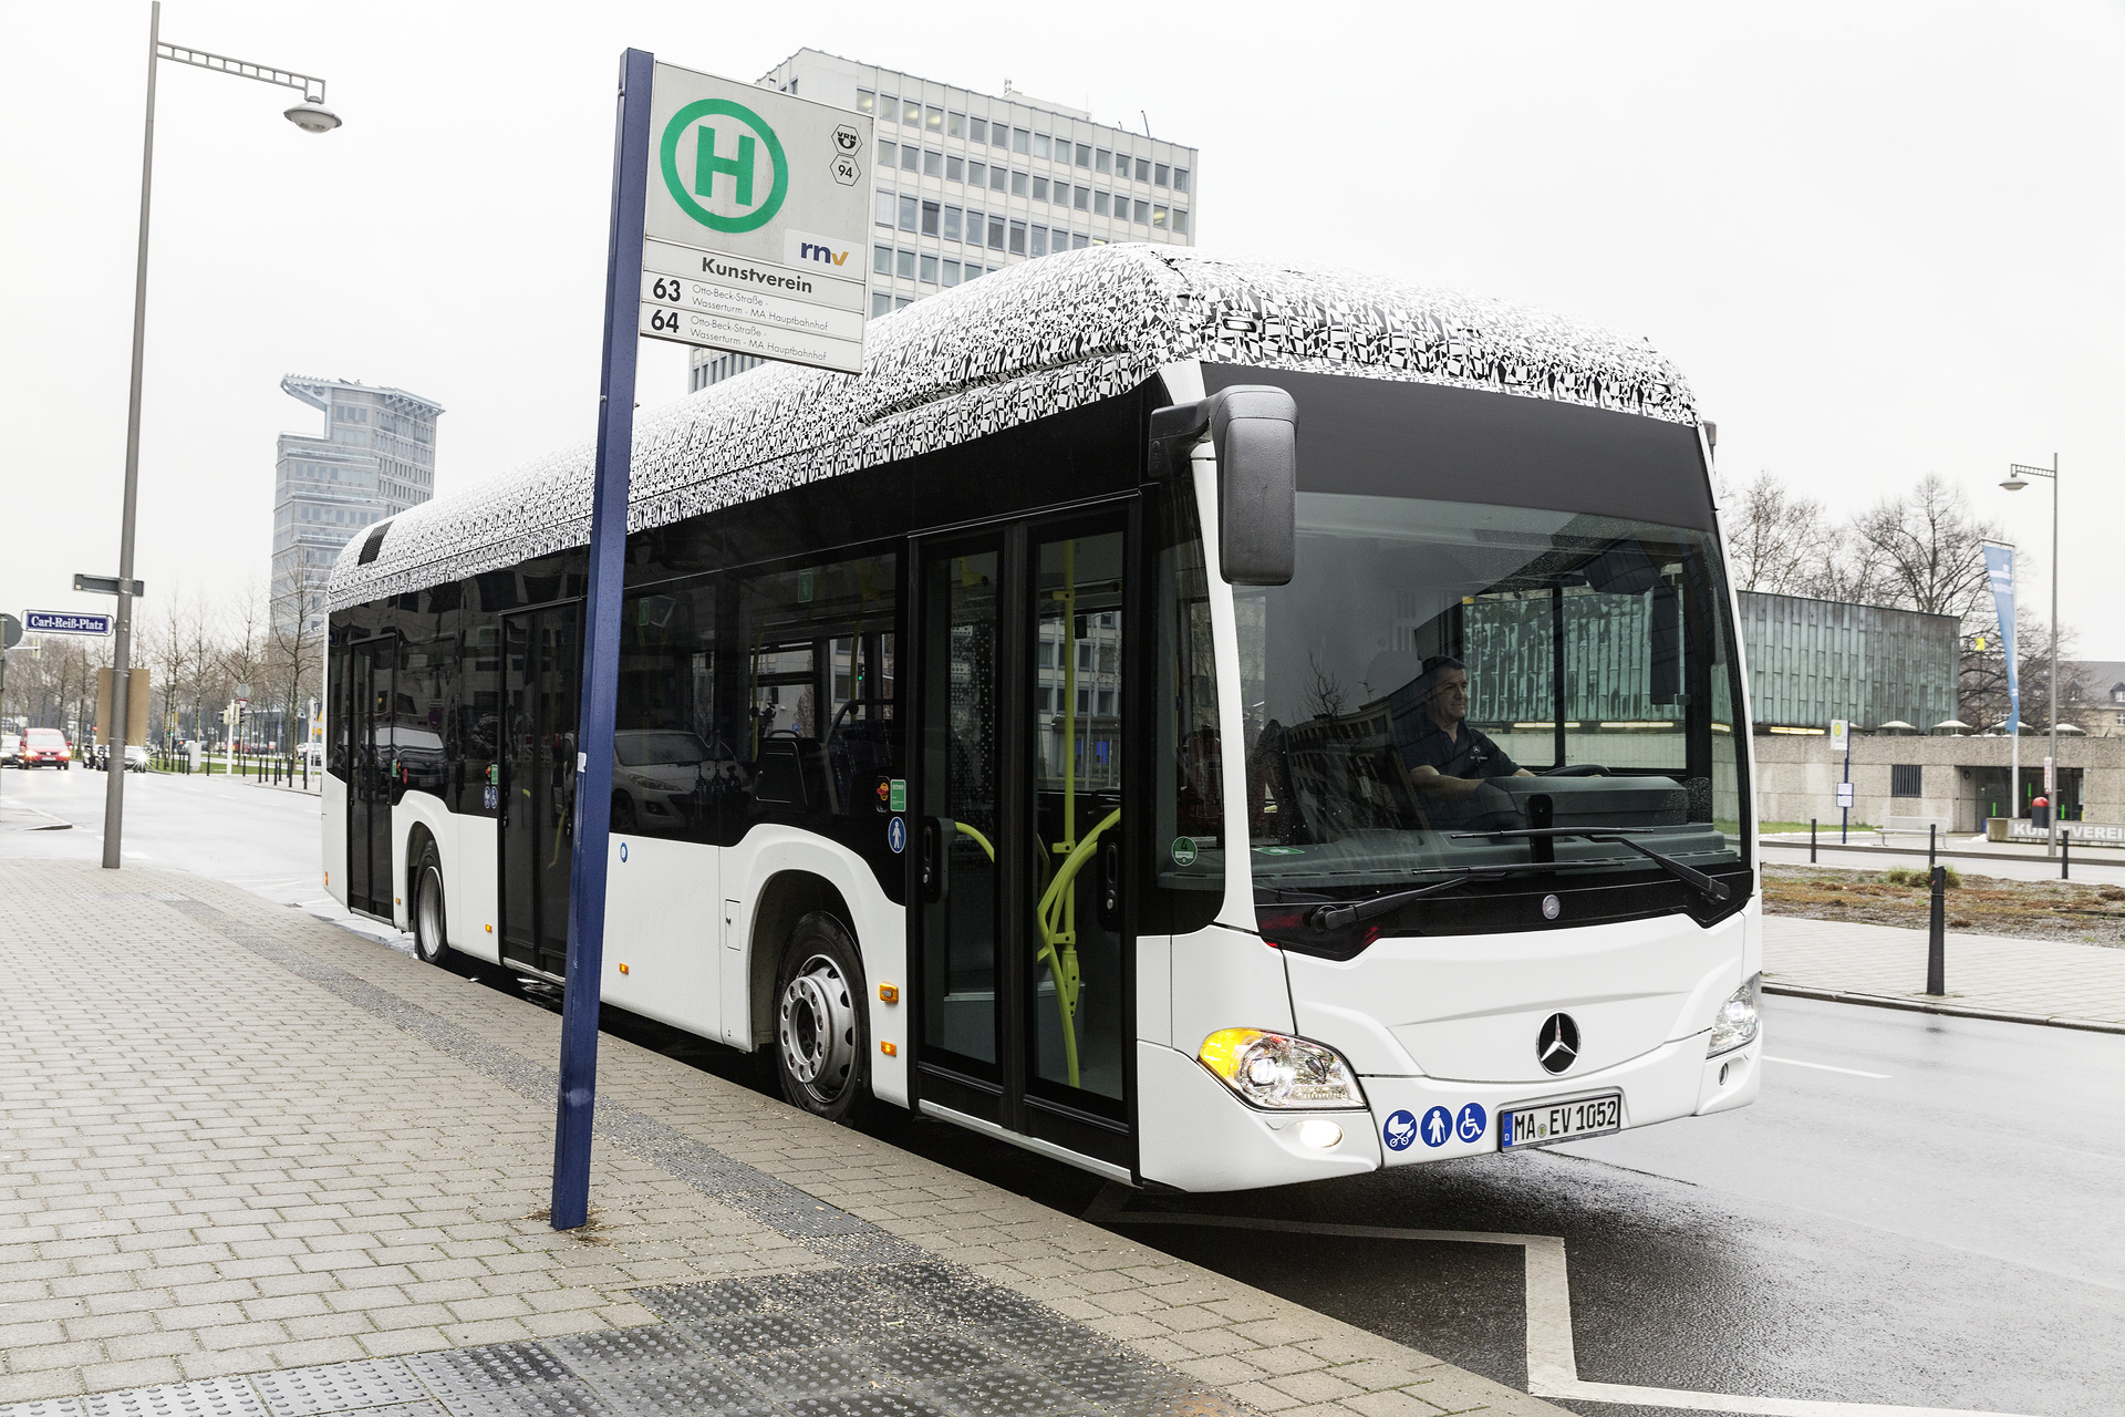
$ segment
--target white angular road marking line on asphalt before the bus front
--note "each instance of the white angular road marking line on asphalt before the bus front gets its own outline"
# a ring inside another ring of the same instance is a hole
[[[1842,1069],[1840,1069],[1842,1071]],[[1630,1383],[1587,1383],[1579,1377],[1572,1349],[1572,1294],[1564,1266],[1564,1239],[1556,1234],[1504,1234],[1485,1230],[1409,1230],[1405,1226],[1339,1226],[1311,1219],[1254,1219],[1250,1215],[1186,1215],[1175,1211],[1126,1211],[1130,1190],[1107,1181],[1084,1219],[1122,1226],[1205,1226],[1216,1230],[1275,1230],[1281,1234],[1334,1234],[1373,1241],[1449,1241],[1460,1245],[1519,1245],[1528,1275],[1528,1394],[1575,1398],[1579,1402],[1630,1402],[1677,1406],[1704,1413],[1749,1413],[1753,1417],[2023,1417],[1980,1413],[1961,1406],[1898,1406],[1893,1402],[1825,1402],[1817,1398],[1751,1398],[1685,1387],[1636,1387]]]

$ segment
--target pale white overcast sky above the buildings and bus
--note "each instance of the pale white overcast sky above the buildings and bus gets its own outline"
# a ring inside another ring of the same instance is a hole
[[[0,0],[0,610],[117,569],[147,4]],[[1203,149],[1207,251],[1356,266],[1645,334],[1836,512],[1938,472],[2125,659],[2125,6],[289,4],[172,0],[138,574],[264,586],[283,374],[440,402],[438,491],[589,438],[620,49],[756,79],[799,47],[1018,89]],[[644,342],[642,402],[684,393]],[[108,601],[102,601],[108,605]],[[2042,608],[2042,601],[2038,601]],[[153,608],[153,605],[151,605]]]

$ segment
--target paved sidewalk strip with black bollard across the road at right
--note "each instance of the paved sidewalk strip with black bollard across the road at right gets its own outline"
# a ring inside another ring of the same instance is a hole
[[[1946,998],[1925,992],[1925,931],[1764,916],[1764,984],[1949,1011],[2125,1030],[2125,950],[1946,937]]]

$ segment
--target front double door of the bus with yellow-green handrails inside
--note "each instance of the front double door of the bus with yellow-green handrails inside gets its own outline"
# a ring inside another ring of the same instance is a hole
[[[918,1094],[1133,1166],[1120,512],[918,559]]]

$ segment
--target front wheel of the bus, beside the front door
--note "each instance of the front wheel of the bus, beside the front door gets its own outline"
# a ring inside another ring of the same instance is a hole
[[[801,918],[782,945],[774,1024],[782,1096],[812,1115],[852,1122],[871,1094],[871,1026],[856,941],[827,911]]]

